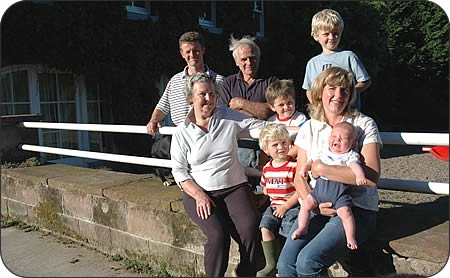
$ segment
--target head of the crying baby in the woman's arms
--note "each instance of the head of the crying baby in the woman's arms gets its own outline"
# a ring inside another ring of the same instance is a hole
[[[331,151],[342,154],[350,151],[356,144],[356,129],[348,122],[340,122],[333,126],[328,146]]]

